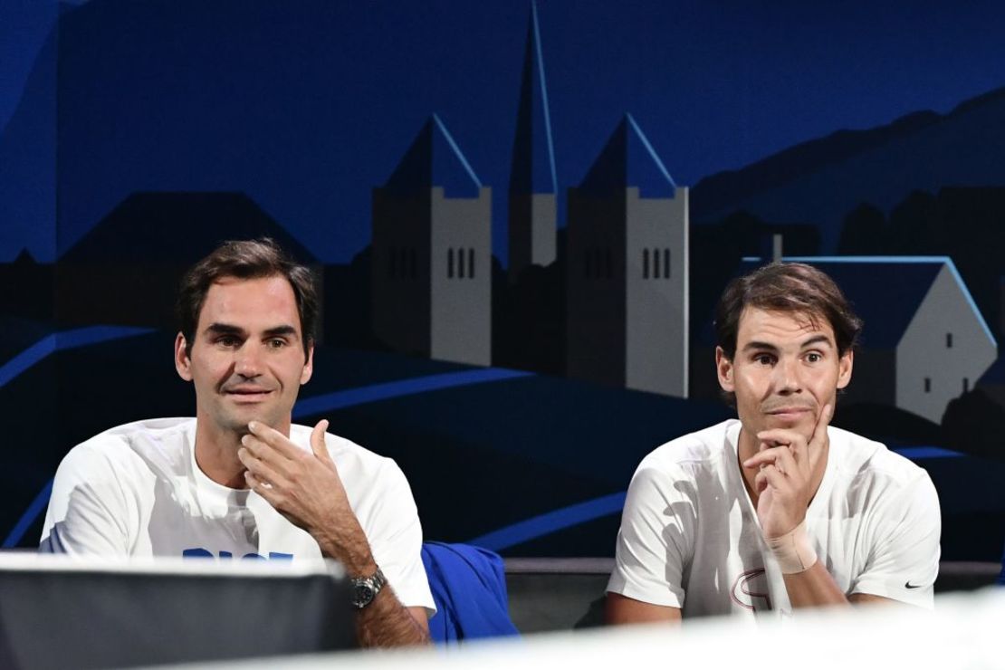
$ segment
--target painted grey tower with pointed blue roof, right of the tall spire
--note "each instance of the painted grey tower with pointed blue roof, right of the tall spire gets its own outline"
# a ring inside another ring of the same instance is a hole
[[[567,374],[687,397],[687,189],[630,115],[569,189]]]

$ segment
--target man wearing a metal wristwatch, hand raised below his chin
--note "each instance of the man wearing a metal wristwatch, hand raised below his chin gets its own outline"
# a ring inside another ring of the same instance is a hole
[[[291,424],[314,370],[310,271],[271,240],[226,242],[185,275],[175,368],[195,419],[139,421],[74,447],[41,549],[89,555],[338,559],[364,646],[428,641],[422,528],[394,461]]]

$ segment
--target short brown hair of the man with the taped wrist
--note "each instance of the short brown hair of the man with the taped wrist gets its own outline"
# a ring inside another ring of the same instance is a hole
[[[834,330],[837,352],[844,356],[858,344],[862,319],[825,272],[806,263],[773,262],[737,277],[716,306],[718,345],[730,361],[737,354],[740,317],[747,307],[800,312],[816,324],[824,318]]]

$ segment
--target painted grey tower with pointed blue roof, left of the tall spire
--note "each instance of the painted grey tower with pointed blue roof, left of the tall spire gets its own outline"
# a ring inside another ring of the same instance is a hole
[[[393,350],[487,366],[491,189],[436,115],[373,192],[374,332]]]

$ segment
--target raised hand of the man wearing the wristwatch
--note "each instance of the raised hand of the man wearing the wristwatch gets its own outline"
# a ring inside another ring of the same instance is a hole
[[[328,421],[319,421],[311,451],[305,451],[279,431],[251,421],[237,457],[247,468],[248,486],[310,532],[323,554],[341,561],[350,575],[370,575],[376,564],[325,445]]]

